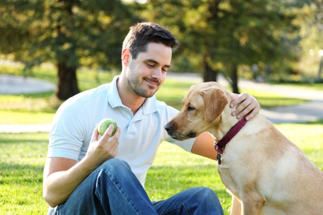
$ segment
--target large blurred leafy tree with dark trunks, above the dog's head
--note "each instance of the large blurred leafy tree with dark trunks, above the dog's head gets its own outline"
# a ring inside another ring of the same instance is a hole
[[[144,18],[175,29],[182,44],[180,55],[200,59],[205,82],[216,81],[221,71],[235,93],[239,66],[293,59],[295,15],[281,1],[155,0],[145,7]],[[154,13],[148,13],[152,8]]]

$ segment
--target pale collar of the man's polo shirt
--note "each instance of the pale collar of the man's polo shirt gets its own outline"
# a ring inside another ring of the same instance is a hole
[[[115,107],[126,107],[127,106],[123,105],[118,93],[118,88],[117,88],[117,80],[119,76],[115,76],[111,82],[111,87],[108,89],[108,101],[111,106],[111,108]],[[157,99],[155,96],[152,96],[150,98],[146,98],[145,101],[142,104],[142,113],[145,115],[154,113],[157,111],[157,105],[156,105]]]

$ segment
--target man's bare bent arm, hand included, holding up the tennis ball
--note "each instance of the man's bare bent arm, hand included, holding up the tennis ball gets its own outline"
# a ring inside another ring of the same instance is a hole
[[[76,160],[67,158],[47,158],[44,168],[43,198],[51,207],[65,202],[86,177],[118,151],[120,127],[109,140],[113,130],[110,125],[98,141],[98,128],[92,134],[85,157],[76,164]]]

